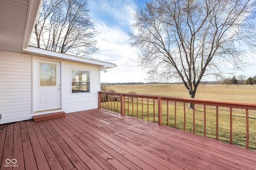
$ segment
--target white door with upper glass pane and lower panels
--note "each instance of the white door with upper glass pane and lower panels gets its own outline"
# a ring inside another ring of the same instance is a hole
[[[34,60],[34,111],[60,109],[60,62]]]

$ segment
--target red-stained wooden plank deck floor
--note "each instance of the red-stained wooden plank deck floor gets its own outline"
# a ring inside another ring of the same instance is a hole
[[[100,109],[9,124],[0,155],[1,170],[256,169],[255,151]]]

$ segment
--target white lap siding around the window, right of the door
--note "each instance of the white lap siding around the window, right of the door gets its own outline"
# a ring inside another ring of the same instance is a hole
[[[63,62],[63,109],[66,113],[98,108],[99,67]],[[71,69],[90,70],[90,93],[71,94]]]

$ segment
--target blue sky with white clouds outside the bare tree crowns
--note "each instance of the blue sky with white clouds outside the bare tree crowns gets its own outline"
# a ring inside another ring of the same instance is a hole
[[[94,58],[100,61],[117,64],[116,68],[101,72],[101,82],[146,82],[148,75],[138,66],[139,50],[128,44],[128,32],[132,31],[132,14],[139,7],[146,6],[146,0],[88,0],[90,16],[100,32],[97,36],[100,54]],[[256,75],[255,58],[249,57],[254,65],[236,76]],[[231,75],[230,75],[231,77]],[[214,80],[214,79],[208,79]]]

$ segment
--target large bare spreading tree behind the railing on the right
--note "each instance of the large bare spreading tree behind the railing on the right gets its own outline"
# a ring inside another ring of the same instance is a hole
[[[244,68],[255,52],[255,0],[152,0],[134,14],[130,45],[158,81],[179,78],[194,98],[203,76]],[[192,108],[192,104],[190,104]]]

